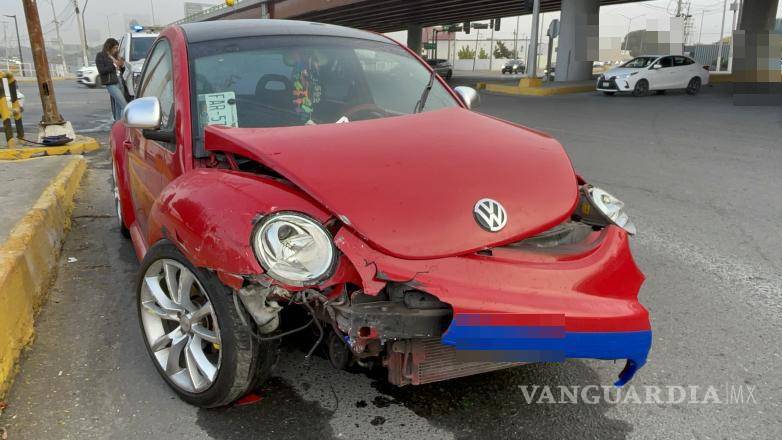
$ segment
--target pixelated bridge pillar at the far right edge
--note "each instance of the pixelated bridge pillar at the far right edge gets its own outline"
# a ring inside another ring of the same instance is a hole
[[[774,33],[779,0],[745,1],[733,32],[733,104],[782,105],[779,54],[782,35]]]

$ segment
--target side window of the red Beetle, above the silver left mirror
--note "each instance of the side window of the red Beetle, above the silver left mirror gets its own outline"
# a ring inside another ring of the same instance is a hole
[[[160,128],[174,126],[174,78],[171,68],[171,46],[161,39],[152,49],[144,71],[139,96],[155,96],[160,101]]]

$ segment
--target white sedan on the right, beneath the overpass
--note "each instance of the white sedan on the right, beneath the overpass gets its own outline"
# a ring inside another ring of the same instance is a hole
[[[631,92],[645,96],[650,91],[685,89],[698,93],[709,83],[709,67],[683,55],[651,55],[632,60],[606,71],[597,79],[597,90],[606,95]]]

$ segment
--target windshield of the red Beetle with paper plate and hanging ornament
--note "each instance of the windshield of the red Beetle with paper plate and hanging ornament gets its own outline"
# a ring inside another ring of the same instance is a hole
[[[215,40],[190,48],[197,140],[209,124],[285,127],[414,113],[429,70],[392,43],[322,36]],[[456,107],[434,81],[422,111]]]

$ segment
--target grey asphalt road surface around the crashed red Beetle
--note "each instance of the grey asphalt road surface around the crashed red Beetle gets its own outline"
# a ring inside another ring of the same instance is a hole
[[[105,91],[56,88],[61,112],[105,139]],[[782,109],[734,107],[724,90],[707,89],[642,99],[484,95],[481,111],[552,133],[579,173],[627,203],[639,229],[634,254],[648,277],[641,301],[654,328],[635,389],[744,386],[752,400],[525,401],[520,386],[608,385],[621,369],[580,360],[394,388],[375,373],[334,371],[321,358],[305,364],[294,344],[259,403],[188,406],[142,345],[137,262],[113,218],[103,150],[89,158],[59,276],[0,426],[10,440],[780,438]]]

